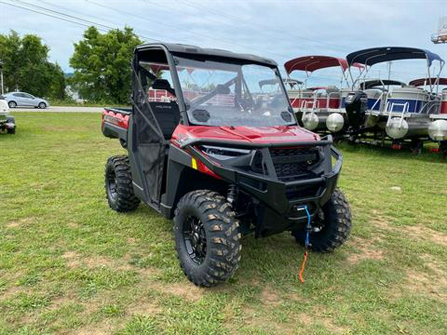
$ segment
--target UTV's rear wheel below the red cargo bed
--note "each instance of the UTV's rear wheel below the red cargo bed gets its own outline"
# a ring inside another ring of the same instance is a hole
[[[110,208],[117,212],[134,210],[140,204],[132,186],[129,158],[112,156],[105,166],[105,190]]]

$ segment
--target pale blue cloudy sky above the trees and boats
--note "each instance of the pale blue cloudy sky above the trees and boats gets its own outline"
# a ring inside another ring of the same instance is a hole
[[[78,24],[10,4],[56,16],[61,15],[55,11],[63,12]],[[73,71],[69,60],[74,43],[82,39],[86,25],[97,24],[105,30],[133,27],[147,42],[252,53],[272,58],[282,67],[299,56],[345,57],[377,46],[424,48],[447,59],[447,44],[430,41],[442,16],[447,16],[446,0],[0,0],[0,33],[12,29],[40,36],[50,47],[50,60],[66,72]],[[434,64],[433,70],[437,72],[439,65]],[[309,81],[336,84],[340,73],[338,68],[322,69],[312,73]],[[425,73],[423,60],[391,66],[391,77],[397,80],[409,81]],[[370,76],[385,75],[386,64],[372,67]],[[305,74],[295,72],[292,77],[303,79]]]

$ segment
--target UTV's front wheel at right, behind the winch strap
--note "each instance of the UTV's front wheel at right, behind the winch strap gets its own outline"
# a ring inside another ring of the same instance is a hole
[[[351,209],[343,192],[335,189],[331,198],[324,204],[318,217],[312,222],[310,250],[328,253],[340,247],[351,232]],[[305,231],[292,232],[298,244],[304,246]]]

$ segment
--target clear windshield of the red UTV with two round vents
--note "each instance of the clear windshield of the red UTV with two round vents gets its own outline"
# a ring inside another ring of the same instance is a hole
[[[275,69],[256,64],[176,59],[192,124],[258,127],[296,124]]]

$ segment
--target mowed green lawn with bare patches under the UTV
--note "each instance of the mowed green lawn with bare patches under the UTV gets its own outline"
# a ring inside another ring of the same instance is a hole
[[[107,205],[123,154],[100,114],[15,113],[0,134],[0,334],[447,334],[447,161],[341,145],[348,242],[310,253],[288,233],[242,240],[235,276],[191,284],[172,223]]]

